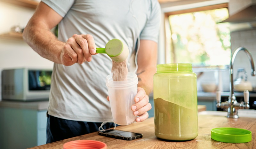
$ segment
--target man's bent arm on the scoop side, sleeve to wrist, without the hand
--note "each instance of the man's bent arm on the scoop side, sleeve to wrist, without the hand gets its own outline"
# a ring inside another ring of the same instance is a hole
[[[29,20],[23,32],[23,38],[40,56],[56,63],[60,62],[60,53],[65,43],[60,42],[51,29],[62,17],[48,5],[40,2],[36,12]]]

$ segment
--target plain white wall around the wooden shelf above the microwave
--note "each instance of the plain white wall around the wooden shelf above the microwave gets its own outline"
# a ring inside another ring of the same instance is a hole
[[[25,27],[35,9],[0,1],[0,34],[12,26]],[[0,68],[33,67],[52,68],[53,62],[39,56],[23,40],[0,38]]]

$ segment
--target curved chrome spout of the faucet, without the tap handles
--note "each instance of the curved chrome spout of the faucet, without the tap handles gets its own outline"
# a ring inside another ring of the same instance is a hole
[[[246,48],[244,47],[238,47],[234,53],[232,54],[231,56],[231,61],[230,61],[230,97],[232,97],[232,95],[234,94],[234,80],[233,80],[233,73],[234,73],[234,70],[233,70],[233,65],[234,65],[234,61],[235,61],[235,58],[236,58],[236,55],[239,51],[244,51],[246,54],[247,54],[247,57],[249,58],[250,60],[250,63],[251,63],[251,75],[252,76],[255,76],[256,75],[256,72],[255,72],[255,67],[254,67],[254,60],[252,58],[252,54],[249,50],[247,50]]]

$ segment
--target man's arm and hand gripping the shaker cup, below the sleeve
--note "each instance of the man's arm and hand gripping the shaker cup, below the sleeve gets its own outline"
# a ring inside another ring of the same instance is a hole
[[[150,40],[140,40],[138,53],[138,93],[134,97],[135,104],[131,109],[139,116],[136,122],[143,122],[148,118],[148,111],[152,108],[148,95],[153,89],[153,75],[156,73],[157,43]]]

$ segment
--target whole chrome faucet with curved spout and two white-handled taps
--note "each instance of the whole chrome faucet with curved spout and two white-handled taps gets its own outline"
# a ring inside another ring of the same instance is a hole
[[[238,116],[237,111],[239,109],[249,109],[250,108],[250,106],[249,106],[249,91],[248,90],[244,90],[244,102],[241,102],[241,103],[236,101],[236,96],[234,94],[233,65],[234,65],[236,55],[239,51],[244,51],[247,54],[247,57],[250,59],[251,66],[252,66],[251,75],[252,76],[256,75],[255,67],[254,67],[254,61],[253,61],[251,52],[249,50],[247,50],[246,48],[244,48],[244,47],[237,48],[234,51],[234,53],[232,54],[231,60],[230,60],[230,86],[229,86],[230,96],[228,97],[228,101],[221,102],[220,101],[221,92],[220,92],[220,90],[216,91],[216,100],[217,100],[216,107],[227,110],[228,111],[228,115],[227,115],[228,118],[238,118],[239,116]]]

